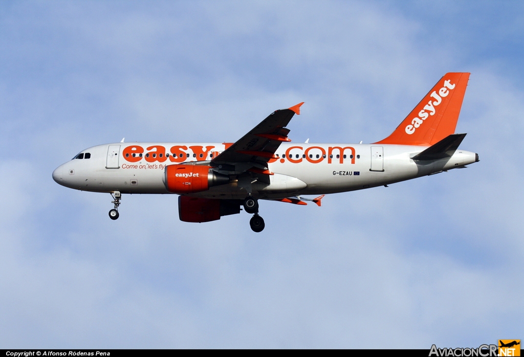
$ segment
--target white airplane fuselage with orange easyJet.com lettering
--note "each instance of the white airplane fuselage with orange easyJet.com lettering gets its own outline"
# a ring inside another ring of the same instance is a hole
[[[140,151],[143,149],[142,156],[130,156],[129,149],[126,153],[130,146],[138,147]],[[168,194],[164,182],[166,165],[211,160],[212,155],[216,157],[227,147],[228,144],[224,143],[103,144],[82,151],[90,153],[89,159],[73,159],[59,166],[53,172],[53,179],[63,186],[82,191]],[[342,153],[337,148],[345,149]],[[464,150],[456,150],[451,158],[436,161],[411,159],[426,148],[388,144],[282,143],[276,152],[279,159],[268,163],[269,171],[274,173],[269,176],[269,185],[241,177],[192,196],[243,199],[252,193],[261,199],[273,199],[355,191],[461,168],[478,160],[475,153]],[[238,170],[242,171],[242,168]],[[231,171],[224,173],[232,174]]]

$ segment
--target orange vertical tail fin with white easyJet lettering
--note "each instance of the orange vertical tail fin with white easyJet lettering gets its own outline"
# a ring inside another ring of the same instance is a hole
[[[431,146],[455,132],[470,73],[446,73],[400,125],[376,144]]]

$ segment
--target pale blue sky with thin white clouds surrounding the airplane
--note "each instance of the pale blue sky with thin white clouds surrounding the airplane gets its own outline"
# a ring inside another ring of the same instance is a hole
[[[0,4],[0,347],[430,348],[522,338],[521,2]],[[446,72],[479,163],[321,208],[178,220],[51,172],[120,141],[374,142]]]

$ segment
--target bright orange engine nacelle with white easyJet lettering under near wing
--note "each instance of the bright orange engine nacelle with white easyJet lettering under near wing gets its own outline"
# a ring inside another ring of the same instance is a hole
[[[188,194],[208,190],[211,186],[229,183],[229,176],[216,173],[210,166],[167,165],[164,184],[167,191]]]

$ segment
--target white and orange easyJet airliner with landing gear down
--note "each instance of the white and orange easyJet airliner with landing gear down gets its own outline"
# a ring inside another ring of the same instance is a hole
[[[303,103],[271,113],[234,143],[121,142],[94,146],[53,171],[58,184],[110,193],[118,218],[122,194],[178,194],[184,222],[252,214],[261,232],[259,200],[321,206],[326,194],[355,191],[478,162],[459,150],[455,133],[470,73],[446,73],[387,138],[370,143],[291,143],[286,128]],[[303,195],[321,195],[307,198]]]

